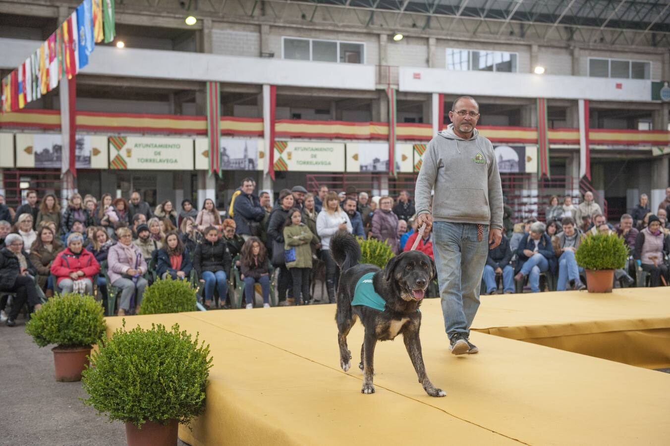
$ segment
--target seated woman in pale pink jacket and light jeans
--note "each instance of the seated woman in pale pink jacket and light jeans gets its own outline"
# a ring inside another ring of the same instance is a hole
[[[135,313],[142,304],[147,280],[142,277],[147,273],[147,262],[142,252],[133,244],[133,233],[129,228],[117,229],[119,242],[109,248],[107,265],[109,265],[109,281],[121,289],[121,301],[117,315],[125,316],[131,309],[131,301],[135,298]]]

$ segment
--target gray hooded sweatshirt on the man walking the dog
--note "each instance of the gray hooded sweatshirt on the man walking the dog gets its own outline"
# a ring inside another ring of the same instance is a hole
[[[502,188],[493,145],[479,136],[470,139],[454,133],[450,124],[431,139],[417,177],[417,215],[431,213],[433,220],[475,223],[502,229]]]

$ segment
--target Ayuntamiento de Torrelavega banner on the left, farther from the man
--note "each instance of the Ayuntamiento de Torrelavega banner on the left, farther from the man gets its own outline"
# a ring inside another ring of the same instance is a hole
[[[110,137],[110,169],[193,170],[193,139]]]

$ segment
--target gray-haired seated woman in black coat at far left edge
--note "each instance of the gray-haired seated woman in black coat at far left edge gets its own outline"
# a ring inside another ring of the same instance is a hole
[[[27,252],[23,250],[21,236],[7,234],[5,247],[0,249],[0,291],[14,294],[11,313],[5,321],[8,327],[16,325],[16,318],[25,303],[35,309],[42,306],[34,280],[36,274],[37,270],[30,263]]]

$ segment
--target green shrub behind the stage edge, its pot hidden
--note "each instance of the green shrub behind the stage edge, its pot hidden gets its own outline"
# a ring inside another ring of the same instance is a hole
[[[197,311],[196,290],[186,280],[157,280],[144,291],[139,314]]]

